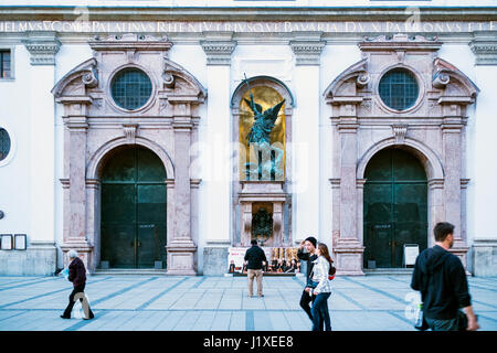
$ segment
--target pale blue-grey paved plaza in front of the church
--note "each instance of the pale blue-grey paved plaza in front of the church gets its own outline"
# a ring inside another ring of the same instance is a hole
[[[337,277],[329,299],[332,329],[413,331],[410,280]],[[482,330],[497,331],[497,278],[468,281]],[[302,277],[265,277],[265,296],[247,298],[246,277],[91,276],[85,291],[95,319],[64,320],[71,282],[0,277],[0,331],[308,331],[298,304],[303,286]]]

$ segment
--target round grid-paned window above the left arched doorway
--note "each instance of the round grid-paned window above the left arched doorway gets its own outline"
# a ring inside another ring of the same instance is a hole
[[[150,98],[151,81],[141,69],[125,68],[116,74],[110,85],[114,101],[125,109],[142,107]]]

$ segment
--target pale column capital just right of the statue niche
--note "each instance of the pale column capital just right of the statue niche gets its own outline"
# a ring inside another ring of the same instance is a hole
[[[319,66],[319,58],[326,45],[321,41],[321,33],[318,32],[293,32],[294,39],[289,42],[292,51],[296,57],[296,65]]]

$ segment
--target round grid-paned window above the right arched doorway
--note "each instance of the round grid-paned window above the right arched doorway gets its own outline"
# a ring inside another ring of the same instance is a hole
[[[394,68],[381,77],[379,93],[381,100],[388,107],[405,110],[416,103],[420,87],[411,72],[405,68]]]

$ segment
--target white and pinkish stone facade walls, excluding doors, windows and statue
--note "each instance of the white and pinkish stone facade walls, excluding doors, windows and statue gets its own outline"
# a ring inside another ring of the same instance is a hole
[[[292,2],[243,11],[194,2],[188,13],[137,4],[118,15],[95,7],[75,20],[70,8],[0,12],[0,50],[14,61],[11,77],[0,78],[9,97],[0,127],[15,145],[0,161],[0,233],[28,234],[27,252],[0,250],[0,274],[52,274],[71,248],[95,271],[103,169],[138,145],[167,173],[170,275],[224,274],[228,248],[248,245],[261,203],[271,204],[273,245],[314,235],[332,249],[339,274],[363,275],[364,171],[398,147],[424,165],[429,229],[454,223],[453,252],[474,275],[495,276],[497,17],[446,2],[429,9],[436,3],[420,10],[420,31],[404,31],[404,8],[296,11]],[[127,67],[152,82],[135,110],[110,94]],[[405,110],[379,97],[379,81],[395,67],[420,86]],[[286,99],[284,180],[240,178],[244,74],[251,87]]]

